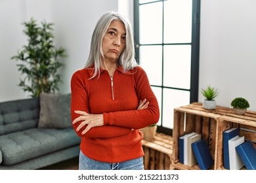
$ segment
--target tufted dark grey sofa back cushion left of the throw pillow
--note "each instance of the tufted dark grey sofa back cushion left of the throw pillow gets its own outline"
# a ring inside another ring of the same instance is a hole
[[[37,127],[39,98],[0,103],[0,135]]]

